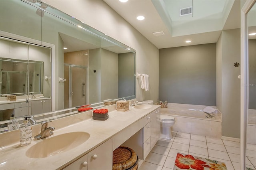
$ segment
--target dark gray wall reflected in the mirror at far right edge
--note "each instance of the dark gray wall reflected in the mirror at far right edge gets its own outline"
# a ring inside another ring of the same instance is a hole
[[[249,109],[256,109],[256,39],[248,42],[249,55]]]

